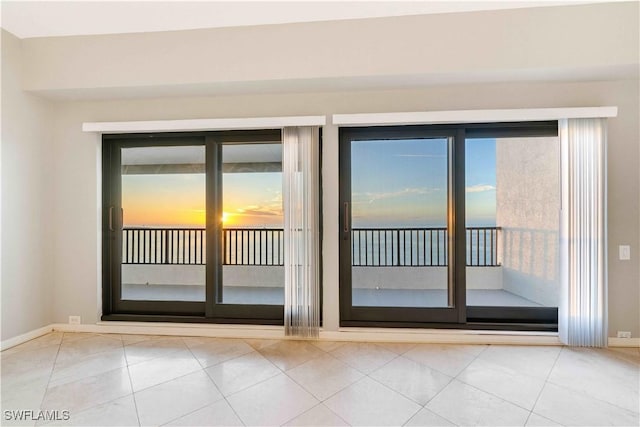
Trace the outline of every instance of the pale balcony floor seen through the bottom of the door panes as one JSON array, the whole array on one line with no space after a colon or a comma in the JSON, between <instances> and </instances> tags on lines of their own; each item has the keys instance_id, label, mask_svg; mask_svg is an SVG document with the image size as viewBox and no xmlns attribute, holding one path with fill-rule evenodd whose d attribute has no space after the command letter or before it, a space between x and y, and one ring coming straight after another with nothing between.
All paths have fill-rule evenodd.
<instances>
[{"instance_id":1,"label":"pale balcony floor seen through the bottom of the door panes","mask_svg":"<svg viewBox=\"0 0 640 427\"><path fill-rule=\"evenodd\" d=\"M122 298L150 301L204 301L204 286L123 285ZM440 289L354 289L353 305L364 307L445 307L447 293ZM225 286L228 304L274 304L284 302L283 288ZM467 291L472 306L540 307L541 305L502 289Z\"/></svg>"}]
</instances>

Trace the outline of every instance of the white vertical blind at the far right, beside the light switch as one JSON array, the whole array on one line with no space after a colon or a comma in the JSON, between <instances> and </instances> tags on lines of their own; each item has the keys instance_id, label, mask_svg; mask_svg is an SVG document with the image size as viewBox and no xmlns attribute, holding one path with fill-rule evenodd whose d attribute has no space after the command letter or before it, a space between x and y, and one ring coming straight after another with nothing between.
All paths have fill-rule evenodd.
<instances>
[{"instance_id":1,"label":"white vertical blind at the far right, beside the light switch","mask_svg":"<svg viewBox=\"0 0 640 427\"><path fill-rule=\"evenodd\" d=\"M606 119L559 121L562 159L560 339L607 345Z\"/></svg>"}]
</instances>

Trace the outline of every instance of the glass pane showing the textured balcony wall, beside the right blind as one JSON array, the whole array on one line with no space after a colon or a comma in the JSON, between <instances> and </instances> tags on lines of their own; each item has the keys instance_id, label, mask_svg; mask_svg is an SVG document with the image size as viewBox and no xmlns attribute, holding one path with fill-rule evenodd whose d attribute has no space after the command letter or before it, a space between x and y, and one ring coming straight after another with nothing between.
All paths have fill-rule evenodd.
<instances>
[{"instance_id":1,"label":"glass pane showing the textured balcony wall, beside the right blind","mask_svg":"<svg viewBox=\"0 0 640 427\"><path fill-rule=\"evenodd\" d=\"M467 139L467 305L557 307L557 137Z\"/></svg>"}]
</instances>

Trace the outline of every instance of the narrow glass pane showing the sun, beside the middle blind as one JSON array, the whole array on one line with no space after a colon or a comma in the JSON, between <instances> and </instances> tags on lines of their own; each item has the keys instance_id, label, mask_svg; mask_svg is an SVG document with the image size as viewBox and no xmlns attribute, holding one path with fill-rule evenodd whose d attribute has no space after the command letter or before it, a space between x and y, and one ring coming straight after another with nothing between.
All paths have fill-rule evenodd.
<instances>
[{"instance_id":1,"label":"narrow glass pane showing the sun, beside the middle blind","mask_svg":"<svg viewBox=\"0 0 640 427\"><path fill-rule=\"evenodd\" d=\"M222 161L222 302L282 305L282 145L223 145Z\"/></svg>"}]
</instances>

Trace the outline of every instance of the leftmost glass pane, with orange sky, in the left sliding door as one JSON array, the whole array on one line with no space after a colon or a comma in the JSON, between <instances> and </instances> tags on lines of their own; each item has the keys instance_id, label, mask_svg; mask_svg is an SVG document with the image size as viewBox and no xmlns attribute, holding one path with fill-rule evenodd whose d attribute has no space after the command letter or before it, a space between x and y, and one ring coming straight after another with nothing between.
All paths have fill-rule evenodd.
<instances>
[{"instance_id":1,"label":"leftmost glass pane, with orange sky, in the left sliding door","mask_svg":"<svg viewBox=\"0 0 640 427\"><path fill-rule=\"evenodd\" d=\"M205 300L205 148L123 148L122 299Z\"/></svg>"}]
</instances>

